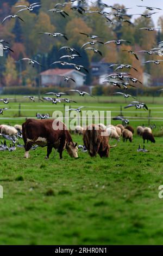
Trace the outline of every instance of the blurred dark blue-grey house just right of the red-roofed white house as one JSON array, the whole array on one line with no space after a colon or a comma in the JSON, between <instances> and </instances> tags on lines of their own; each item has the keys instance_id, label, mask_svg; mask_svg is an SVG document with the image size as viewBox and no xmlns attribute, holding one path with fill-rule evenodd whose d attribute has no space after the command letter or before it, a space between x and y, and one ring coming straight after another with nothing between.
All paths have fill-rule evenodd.
<instances>
[{"instance_id":1,"label":"blurred dark blue-grey house just right of the red-roofed white house","mask_svg":"<svg viewBox=\"0 0 163 256\"><path fill-rule=\"evenodd\" d=\"M106 63L103 61L91 63L91 76L93 85L102 85L104 77L113 72L113 68L110 68L112 63Z\"/></svg>"}]
</instances>

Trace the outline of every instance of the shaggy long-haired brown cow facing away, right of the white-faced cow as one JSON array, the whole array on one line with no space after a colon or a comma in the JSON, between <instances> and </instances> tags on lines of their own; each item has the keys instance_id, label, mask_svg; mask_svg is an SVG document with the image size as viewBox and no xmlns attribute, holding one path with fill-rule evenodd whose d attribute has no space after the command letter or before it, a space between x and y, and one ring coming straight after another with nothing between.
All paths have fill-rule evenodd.
<instances>
[{"instance_id":1,"label":"shaggy long-haired brown cow facing away, right of the white-faced cow","mask_svg":"<svg viewBox=\"0 0 163 256\"><path fill-rule=\"evenodd\" d=\"M110 148L116 146L109 145L109 137L104 132L97 124L91 124L84 130L83 142L91 157L97 153L100 157L108 157Z\"/></svg>"}]
</instances>

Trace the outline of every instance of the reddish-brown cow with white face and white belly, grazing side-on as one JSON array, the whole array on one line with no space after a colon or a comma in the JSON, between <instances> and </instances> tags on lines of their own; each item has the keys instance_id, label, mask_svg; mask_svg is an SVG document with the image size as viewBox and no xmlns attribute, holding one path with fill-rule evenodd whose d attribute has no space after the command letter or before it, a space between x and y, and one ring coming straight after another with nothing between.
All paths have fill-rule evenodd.
<instances>
[{"instance_id":1,"label":"reddish-brown cow with white face and white belly, grazing side-on","mask_svg":"<svg viewBox=\"0 0 163 256\"><path fill-rule=\"evenodd\" d=\"M24 157L29 157L29 150L33 144L41 147L47 146L47 156L52 152L52 148L57 148L60 159L62 159L62 152L66 148L71 157L78 157L77 143L73 143L70 133L68 132L64 123L57 121L55 125L58 129L53 129L55 120L35 120L28 119L22 124L22 134L26 153ZM62 127L62 128L59 128Z\"/></svg>"}]
</instances>

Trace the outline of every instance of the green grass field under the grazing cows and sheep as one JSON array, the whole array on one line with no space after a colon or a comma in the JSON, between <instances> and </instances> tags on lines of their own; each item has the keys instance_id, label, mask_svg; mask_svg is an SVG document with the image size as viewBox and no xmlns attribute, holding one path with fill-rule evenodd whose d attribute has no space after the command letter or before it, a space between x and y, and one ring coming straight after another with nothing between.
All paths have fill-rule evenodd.
<instances>
[{"instance_id":1,"label":"green grass field under the grazing cows and sheep","mask_svg":"<svg viewBox=\"0 0 163 256\"><path fill-rule=\"evenodd\" d=\"M162 98L139 100L151 109L151 123L157 126L154 133L158 132L163 125ZM21 118L18 102L9 103L1 124L21 124L26 117L35 117L36 112L52 115L55 109L63 110L63 104L18 101ZM116 116L120 105L126 103L121 97L85 97L79 104L71 104L81 105L89 110L111 110ZM131 126L148 124L148 111L122 111L131 117ZM83 144L82 136L72 137ZM91 158L80 150L78 159L70 158L65 151L64 160L54 151L46 160L46 148L31 151L29 159L23 158L23 148L0 152L0 184L4 189L4 198L0 199L0 244L162 244L163 199L158 197L158 187L163 184L163 138L146 144L148 153L138 153L139 144L142 146L143 140L136 134L132 143L121 140L111 148L107 159Z\"/></svg>"}]
</instances>

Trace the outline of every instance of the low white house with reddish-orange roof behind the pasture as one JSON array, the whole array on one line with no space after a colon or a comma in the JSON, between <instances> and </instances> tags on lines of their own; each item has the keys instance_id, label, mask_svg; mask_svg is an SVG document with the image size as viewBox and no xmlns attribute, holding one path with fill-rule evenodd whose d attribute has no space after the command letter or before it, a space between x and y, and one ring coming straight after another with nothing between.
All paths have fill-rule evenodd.
<instances>
[{"instance_id":1,"label":"low white house with reddish-orange roof behind the pasture","mask_svg":"<svg viewBox=\"0 0 163 256\"><path fill-rule=\"evenodd\" d=\"M65 75L70 76L72 79L76 81L69 80L65 82L65 79L62 76ZM41 76L41 86L42 87L50 87L50 86L67 86L67 87L80 87L84 85L86 74L79 72L75 69L48 69L44 72L40 73Z\"/></svg>"}]
</instances>

